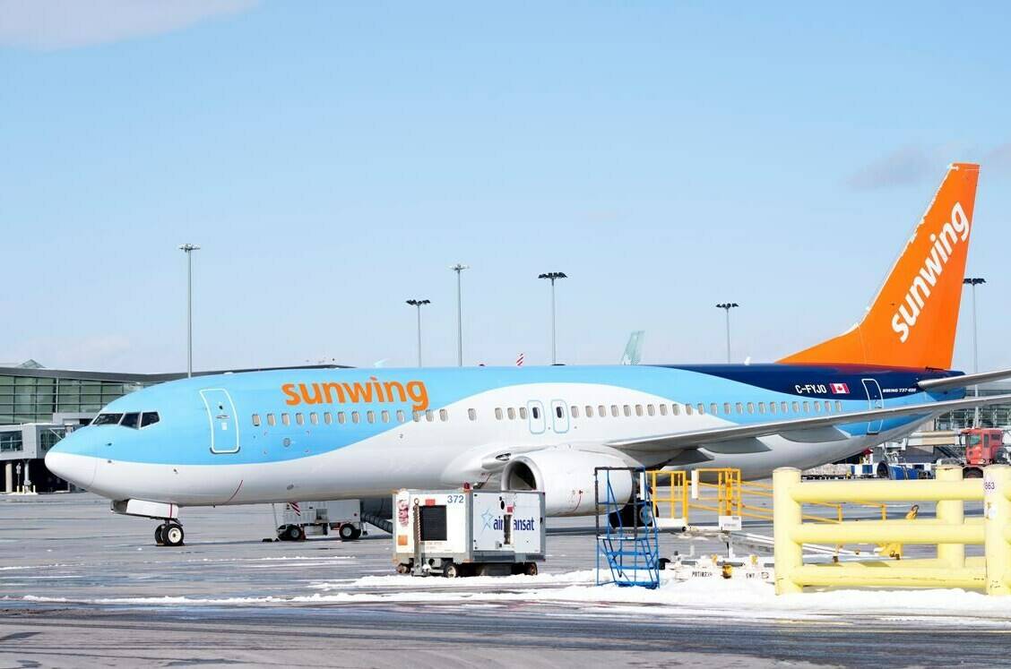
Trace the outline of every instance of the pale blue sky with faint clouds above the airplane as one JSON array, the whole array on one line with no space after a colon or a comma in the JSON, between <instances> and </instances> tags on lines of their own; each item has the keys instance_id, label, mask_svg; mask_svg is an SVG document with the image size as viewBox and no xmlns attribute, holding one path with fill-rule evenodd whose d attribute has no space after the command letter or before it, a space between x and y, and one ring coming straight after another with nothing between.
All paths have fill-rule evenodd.
<instances>
[{"instance_id":1,"label":"pale blue sky with faint clouds above the airplane","mask_svg":"<svg viewBox=\"0 0 1011 669\"><path fill-rule=\"evenodd\" d=\"M852 324L983 164L980 366L1011 367L999 3L0 0L0 360L174 371L774 360ZM964 303L968 307L968 301ZM963 315L968 308L963 308ZM955 363L972 366L971 329Z\"/></svg>"}]
</instances>

